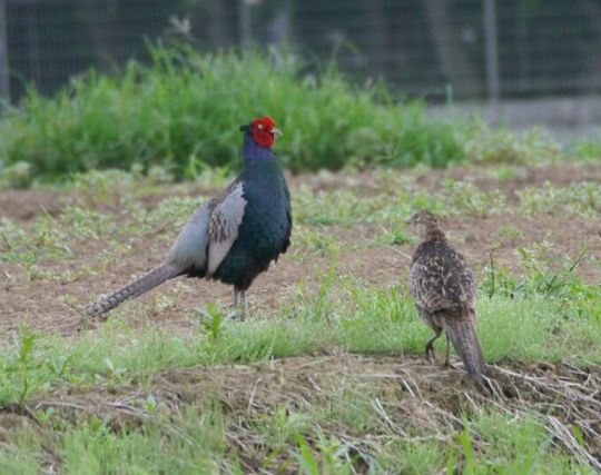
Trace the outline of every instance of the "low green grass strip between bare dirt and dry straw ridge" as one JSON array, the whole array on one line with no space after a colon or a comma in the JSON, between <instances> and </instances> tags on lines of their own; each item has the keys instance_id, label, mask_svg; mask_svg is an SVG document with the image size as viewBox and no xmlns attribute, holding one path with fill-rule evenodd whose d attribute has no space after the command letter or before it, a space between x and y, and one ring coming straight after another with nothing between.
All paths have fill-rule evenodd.
<instances>
[{"instance_id":1,"label":"low green grass strip between bare dirt and dry straw ridge","mask_svg":"<svg viewBox=\"0 0 601 475\"><path fill-rule=\"evenodd\" d=\"M581 305L599 307L601 300L597 296ZM553 363L570 358L600 364L599 320L588 315L574 317L574 308L568 311L563 307L562 300L545 296L481 299L479 330L486 359ZM127 313L127 306L116 310L100 334L75 342L22 328L0 352L0 404L21 403L66 383L118 386L147 380L171 367L249 363L324 354L332 348L421 354L431 335L406 290L382 290L353 281L335 294L322 281L313 297L299 293L276 318L264 316L238 324L216 309L191 314L197 329L185 334L174 335L151 324L134 329L125 319Z\"/></svg>"}]
</instances>

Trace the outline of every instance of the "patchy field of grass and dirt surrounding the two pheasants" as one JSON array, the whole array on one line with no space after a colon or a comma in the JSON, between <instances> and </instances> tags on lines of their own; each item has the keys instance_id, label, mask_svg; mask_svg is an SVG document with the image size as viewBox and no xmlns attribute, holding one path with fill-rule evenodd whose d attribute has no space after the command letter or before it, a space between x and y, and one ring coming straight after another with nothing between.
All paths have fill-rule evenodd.
<instances>
[{"instance_id":1,"label":"patchy field of grass and dirt surrounding the two pheasants","mask_svg":"<svg viewBox=\"0 0 601 475\"><path fill-rule=\"evenodd\" d=\"M579 274L599 265L594 243L570 241L565 251L562 239L531 228L540 212L549 222L591 226L599 186L529 182L514 194L472 180L480 170L436 189L420 185L427 171L418 170L295 179L294 245L282 265L302 271L277 306L259 306L244 323L217 304L195 308L198 296L187 298L186 286L204 287L181 280L124 304L98 328L59 333L97 280L127 279L119 273L135 271L127 261L138 254L160 256L189 212L227 181L227 168L205 169L194 184L174 184L157 167L76 175L62 186L61 212L3 219L6 286L52 288L51 299L40 298L58 328L38 327L46 315L32 315L0 345L0 472L593 473L585 425L563 416L570 404L581 410L588 403L544 386L585 383L539 368L601 364L601 293ZM431 330L415 313L401 256L415 244L404 218L424 206L467 250L474 229L506 218L477 238L481 254L494 250L493 260L474 265L479 335L489 363L539 382L496 375L520 397L472 404L479 396L461 372L424 363ZM511 265L502 259L508 248ZM403 270L382 284L368 260L384 251L383 267ZM370 264L370 273L361 269ZM443 338L436 350L444 352Z\"/></svg>"}]
</instances>

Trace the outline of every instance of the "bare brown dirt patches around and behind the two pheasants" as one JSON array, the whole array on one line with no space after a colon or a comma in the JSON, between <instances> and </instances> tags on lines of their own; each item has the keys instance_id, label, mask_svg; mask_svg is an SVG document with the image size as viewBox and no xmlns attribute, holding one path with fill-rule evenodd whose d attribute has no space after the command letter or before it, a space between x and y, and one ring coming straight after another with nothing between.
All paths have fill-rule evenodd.
<instances>
[{"instance_id":1,"label":"bare brown dirt patches around and behind the two pheasants","mask_svg":"<svg viewBox=\"0 0 601 475\"><path fill-rule=\"evenodd\" d=\"M393 171L391 171L393 172ZM405 172L408 171L394 171ZM549 181L566 185L573 181L601 181L601 164L562 165L551 168L524 169L520 177L497 184L490 174L477 167L459 167L447 171L433 170L420 172L417 184L425 189L435 190L447 177L469 179L484 189L501 188L508 196L515 190ZM376 184L370 172L351 178L325 174L321 177L300 176L292 179L292 188L300 184L314 190L352 188L365 195L374 192ZM178 191L179 192L179 191ZM190 191L191 192L191 191ZM197 192L197 190L196 190ZM166 191L166 195L168 190ZM9 190L0 191L0 219L8 217L27 226L42 212L60 214L61 207L72 197L61 196L55 190ZM156 202L156 197L148 206ZM519 230L519 236L503 236L499 229L511 225ZM443 219L450 239L466 255L476 269L490 261L494 249L496 266L506 266L520 271L516 248L532 243L548 240L555 256L575 259L587 244L588 253L580 263L577 273L588 284L601 283L601 220L582 219L562 215L536 216L490 216L451 217ZM351 228L329 226L324 232L335 236L341 243L365 244L377 229L374 226L357 225ZM176 230L171 230L174 234ZM40 278L28 280L21 264L1 263L0 271L0 329L16 329L21 324L45 330L68 334L79 328L81 310L99 294L109 293L125 285L132 276L139 275L160 261L168 249L165 239L150 232L140 239L125 243L131 246L120 256L106 256L102 243L90 240L71 249L79 258L43 263L43 268L66 276L59 281ZM250 306L255 311L276 311L287 301L297 288L299 279L309 284L326 268L326 257L295 258L294 235L292 253L282 256L279 263L257 278L249 291ZM378 286L397 285L405 281L412 246L359 246L355 250L344 250L338 256L339 271L361 277ZM82 268L101 267L102 271L82 273ZM69 275L73 277L70 278ZM168 308L150 309L150 318L157 324L178 327L189 326L190 311L210 301L228 305L231 289L224 285L197 279L180 278L169 281L161 291L174 297L175 304ZM142 303L152 301L150 296L140 298ZM140 305L138 303L127 305Z\"/></svg>"}]
</instances>

